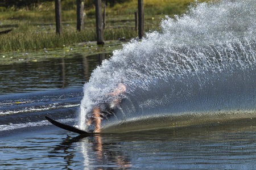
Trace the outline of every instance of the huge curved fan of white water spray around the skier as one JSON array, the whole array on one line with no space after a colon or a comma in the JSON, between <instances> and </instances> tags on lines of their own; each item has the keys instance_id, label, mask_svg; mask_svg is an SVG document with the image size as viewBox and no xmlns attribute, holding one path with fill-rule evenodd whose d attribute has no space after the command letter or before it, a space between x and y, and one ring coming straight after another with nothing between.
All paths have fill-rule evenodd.
<instances>
[{"instance_id":1,"label":"huge curved fan of white water spray around the skier","mask_svg":"<svg viewBox=\"0 0 256 170\"><path fill-rule=\"evenodd\" d=\"M125 101L102 131L121 132L255 118L256 1L221 1L166 17L160 32L131 40L84 86L79 128L117 82Z\"/></svg>"}]
</instances>

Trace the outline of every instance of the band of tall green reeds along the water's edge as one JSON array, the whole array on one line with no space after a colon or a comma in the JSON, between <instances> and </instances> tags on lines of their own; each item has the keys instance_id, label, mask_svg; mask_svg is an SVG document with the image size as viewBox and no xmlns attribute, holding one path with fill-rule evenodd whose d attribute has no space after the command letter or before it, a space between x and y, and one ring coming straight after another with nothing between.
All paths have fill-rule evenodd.
<instances>
[{"instance_id":1,"label":"band of tall green reeds along the water's edge","mask_svg":"<svg viewBox=\"0 0 256 170\"><path fill-rule=\"evenodd\" d=\"M131 28L111 28L104 31L105 40L130 39L135 36L135 30ZM85 41L96 41L95 29L86 28L81 32L65 30L60 36L55 32L10 32L0 36L0 52L58 48Z\"/></svg>"}]
</instances>

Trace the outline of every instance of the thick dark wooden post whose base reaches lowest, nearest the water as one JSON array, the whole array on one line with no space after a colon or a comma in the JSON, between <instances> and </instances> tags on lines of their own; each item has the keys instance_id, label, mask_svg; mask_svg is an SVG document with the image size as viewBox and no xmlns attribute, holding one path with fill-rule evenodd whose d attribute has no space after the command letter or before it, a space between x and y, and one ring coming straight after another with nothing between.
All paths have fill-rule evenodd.
<instances>
[{"instance_id":1,"label":"thick dark wooden post whose base reaches lowest, nearest the water","mask_svg":"<svg viewBox=\"0 0 256 170\"><path fill-rule=\"evenodd\" d=\"M96 6L96 33L97 33L97 44L104 44L103 36L103 24L102 24L102 12L101 12L101 0L95 0Z\"/></svg>"}]
</instances>

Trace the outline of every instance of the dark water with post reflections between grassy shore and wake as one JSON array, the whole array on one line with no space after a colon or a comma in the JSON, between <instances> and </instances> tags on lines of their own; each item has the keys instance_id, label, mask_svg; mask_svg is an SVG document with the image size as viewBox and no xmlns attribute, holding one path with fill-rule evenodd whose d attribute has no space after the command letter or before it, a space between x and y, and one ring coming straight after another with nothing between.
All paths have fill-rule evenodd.
<instances>
[{"instance_id":1,"label":"dark water with post reflections between grassy shore and wake","mask_svg":"<svg viewBox=\"0 0 256 170\"><path fill-rule=\"evenodd\" d=\"M109 54L72 58L52 58L42 62L0 65L0 95L49 90L67 87L82 87L90 73Z\"/></svg>"}]
</instances>

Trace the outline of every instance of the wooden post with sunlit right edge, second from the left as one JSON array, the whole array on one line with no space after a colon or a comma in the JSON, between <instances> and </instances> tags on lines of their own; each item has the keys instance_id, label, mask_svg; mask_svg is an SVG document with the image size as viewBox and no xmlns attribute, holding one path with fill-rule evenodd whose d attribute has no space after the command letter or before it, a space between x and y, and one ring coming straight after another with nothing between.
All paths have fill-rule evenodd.
<instances>
[{"instance_id":1,"label":"wooden post with sunlit right edge, second from the left","mask_svg":"<svg viewBox=\"0 0 256 170\"><path fill-rule=\"evenodd\" d=\"M84 0L76 0L77 31L84 29Z\"/></svg>"}]
</instances>

